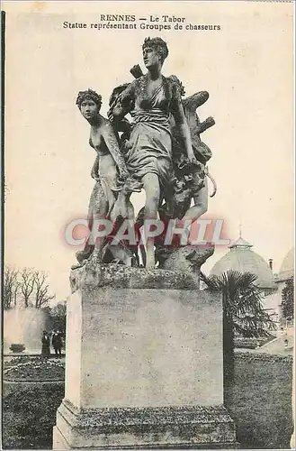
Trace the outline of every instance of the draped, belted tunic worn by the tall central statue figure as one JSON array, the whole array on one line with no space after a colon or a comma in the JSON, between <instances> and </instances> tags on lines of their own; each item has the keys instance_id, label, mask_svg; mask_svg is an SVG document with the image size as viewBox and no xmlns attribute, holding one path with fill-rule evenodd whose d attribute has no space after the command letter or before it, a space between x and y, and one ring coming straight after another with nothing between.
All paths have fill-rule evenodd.
<instances>
[{"instance_id":1,"label":"draped, belted tunic worn by the tall central statue figure","mask_svg":"<svg viewBox=\"0 0 296 451\"><path fill-rule=\"evenodd\" d=\"M131 148L126 153L128 170L137 179L148 173L157 174L161 187L172 176L172 139L163 82L148 99L136 99L130 133ZM137 101L138 100L138 101ZM148 108L144 108L148 106Z\"/></svg>"}]
</instances>

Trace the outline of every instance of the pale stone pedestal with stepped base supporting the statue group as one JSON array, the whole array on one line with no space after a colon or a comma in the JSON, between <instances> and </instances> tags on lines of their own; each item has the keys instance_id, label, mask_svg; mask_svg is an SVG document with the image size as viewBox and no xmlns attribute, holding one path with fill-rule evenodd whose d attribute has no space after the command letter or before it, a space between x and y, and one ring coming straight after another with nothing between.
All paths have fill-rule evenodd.
<instances>
[{"instance_id":1,"label":"pale stone pedestal with stepped base supporting the statue group","mask_svg":"<svg viewBox=\"0 0 296 451\"><path fill-rule=\"evenodd\" d=\"M54 449L235 447L223 407L221 299L193 274L71 273Z\"/></svg>"}]
</instances>

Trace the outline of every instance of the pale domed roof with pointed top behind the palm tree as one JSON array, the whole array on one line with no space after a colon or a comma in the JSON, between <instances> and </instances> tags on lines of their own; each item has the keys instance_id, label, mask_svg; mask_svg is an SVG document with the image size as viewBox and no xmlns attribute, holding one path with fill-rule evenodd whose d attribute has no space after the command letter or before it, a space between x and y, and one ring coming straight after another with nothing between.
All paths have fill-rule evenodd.
<instances>
[{"instance_id":1,"label":"pale domed roof with pointed top behind the palm tree","mask_svg":"<svg viewBox=\"0 0 296 451\"><path fill-rule=\"evenodd\" d=\"M256 285L260 288L275 289L274 275L265 259L251 250L253 244L243 238L229 246L230 251L224 255L211 269L211 275L220 275L230 270L251 272L256 274Z\"/></svg>"}]
</instances>

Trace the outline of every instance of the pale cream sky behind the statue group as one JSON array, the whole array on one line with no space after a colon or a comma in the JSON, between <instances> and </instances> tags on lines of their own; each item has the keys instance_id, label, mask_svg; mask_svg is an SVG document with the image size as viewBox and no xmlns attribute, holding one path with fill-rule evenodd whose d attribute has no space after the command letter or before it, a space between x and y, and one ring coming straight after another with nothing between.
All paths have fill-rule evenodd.
<instances>
[{"instance_id":1,"label":"pale cream sky behind the statue group","mask_svg":"<svg viewBox=\"0 0 296 451\"><path fill-rule=\"evenodd\" d=\"M141 44L168 45L165 76L183 81L186 95L210 93L199 108L216 124L202 134L212 150L209 169L218 192L207 217L223 218L230 239L242 236L278 272L293 245L292 4L253 2L4 2L5 263L49 274L57 300L69 294L76 248L67 223L85 217L93 188L89 124L75 102L79 90L103 97L144 69ZM220 31L91 29L100 14L184 17L220 24ZM65 29L64 21L86 23ZM149 23L147 21L147 23ZM136 209L144 195L134 197ZM228 252L217 248L203 271Z\"/></svg>"}]
</instances>

